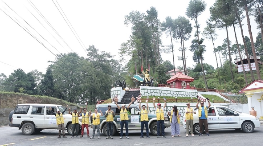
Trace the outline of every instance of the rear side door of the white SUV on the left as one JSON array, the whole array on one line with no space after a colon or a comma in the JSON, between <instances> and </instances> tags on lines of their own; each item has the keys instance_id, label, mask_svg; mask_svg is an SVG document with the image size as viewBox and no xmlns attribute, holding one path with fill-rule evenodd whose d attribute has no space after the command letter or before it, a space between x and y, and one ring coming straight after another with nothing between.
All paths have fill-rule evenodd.
<instances>
[{"instance_id":1,"label":"rear side door of the white SUV on the left","mask_svg":"<svg viewBox=\"0 0 263 146\"><path fill-rule=\"evenodd\" d=\"M44 127L44 108L45 106L33 106L29 115L29 120L34 121L36 128Z\"/></svg>"}]
</instances>

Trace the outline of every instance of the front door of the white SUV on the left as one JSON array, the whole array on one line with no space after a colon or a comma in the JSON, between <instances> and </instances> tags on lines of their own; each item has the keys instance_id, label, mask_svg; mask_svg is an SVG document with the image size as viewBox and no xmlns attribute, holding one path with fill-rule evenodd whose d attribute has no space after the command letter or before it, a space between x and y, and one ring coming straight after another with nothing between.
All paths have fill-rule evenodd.
<instances>
[{"instance_id":1,"label":"front door of the white SUV on the left","mask_svg":"<svg viewBox=\"0 0 263 146\"><path fill-rule=\"evenodd\" d=\"M57 107L52 106L52 111L56 113L57 111ZM49 107L45 107L45 113L44 113L44 126L45 128L57 128L57 120L56 120L56 116L53 115L52 113L48 112L49 111Z\"/></svg>"}]
</instances>

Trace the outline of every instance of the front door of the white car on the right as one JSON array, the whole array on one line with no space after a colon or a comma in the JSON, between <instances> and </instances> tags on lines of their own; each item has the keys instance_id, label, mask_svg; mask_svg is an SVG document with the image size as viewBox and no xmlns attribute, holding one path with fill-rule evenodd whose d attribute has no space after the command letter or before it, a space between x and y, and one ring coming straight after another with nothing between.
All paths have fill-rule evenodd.
<instances>
[{"instance_id":1,"label":"front door of the white car on the right","mask_svg":"<svg viewBox=\"0 0 263 146\"><path fill-rule=\"evenodd\" d=\"M227 107L216 108L219 115L220 129L238 128L240 125L239 114ZM239 127L240 128L240 127Z\"/></svg>"}]
</instances>

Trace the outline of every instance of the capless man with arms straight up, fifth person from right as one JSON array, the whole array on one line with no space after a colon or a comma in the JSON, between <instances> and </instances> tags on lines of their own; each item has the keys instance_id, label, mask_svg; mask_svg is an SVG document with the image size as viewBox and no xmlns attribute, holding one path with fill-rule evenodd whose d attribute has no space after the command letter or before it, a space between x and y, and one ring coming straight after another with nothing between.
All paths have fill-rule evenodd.
<instances>
[{"instance_id":1,"label":"capless man with arms straight up, fifth person from right","mask_svg":"<svg viewBox=\"0 0 263 146\"><path fill-rule=\"evenodd\" d=\"M139 109L141 111L141 113L140 113L141 114L141 137L140 138L143 138L144 125L145 125L145 129L146 129L146 137L150 138L149 128L148 128L148 122L149 122L149 119L148 119L148 109L149 109L148 100L146 100L147 109L145 109L145 105L143 105L142 109L141 109L141 102L142 102L142 100L140 100L140 104L139 104Z\"/></svg>"}]
</instances>

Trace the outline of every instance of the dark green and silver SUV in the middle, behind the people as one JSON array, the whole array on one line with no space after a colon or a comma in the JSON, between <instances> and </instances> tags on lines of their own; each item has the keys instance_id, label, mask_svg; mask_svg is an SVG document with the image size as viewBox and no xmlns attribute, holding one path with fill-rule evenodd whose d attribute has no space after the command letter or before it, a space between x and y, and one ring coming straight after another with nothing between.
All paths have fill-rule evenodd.
<instances>
[{"instance_id":1,"label":"dark green and silver SUV in the middle, behind the people","mask_svg":"<svg viewBox=\"0 0 263 146\"><path fill-rule=\"evenodd\" d=\"M98 111L101 110L103 115L105 114L105 111L108 110L107 104L100 104L97 105ZM111 105L111 110L114 111L115 117L114 117L114 125L113 125L113 135L118 133L120 131L120 111L118 107L115 104ZM140 110L137 105L130 105L129 112L131 113L128 115L129 119L129 130L141 130L140 125ZM156 114L148 114L149 119L149 130L151 131L152 135L157 135L157 119ZM92 121L91 121L92 123ZM165 128L171 126L170 118L168 115L165 115ZM106 117L102 116L100 117L100 130L103 132L105 136L107 136L107 125L106 125ZM124 127L125 129L125 127ZM145 129L145 128L144 128Z\"/></svg>"}]
</instances>

